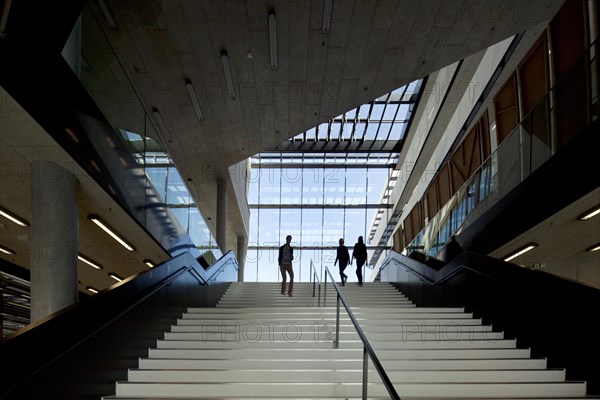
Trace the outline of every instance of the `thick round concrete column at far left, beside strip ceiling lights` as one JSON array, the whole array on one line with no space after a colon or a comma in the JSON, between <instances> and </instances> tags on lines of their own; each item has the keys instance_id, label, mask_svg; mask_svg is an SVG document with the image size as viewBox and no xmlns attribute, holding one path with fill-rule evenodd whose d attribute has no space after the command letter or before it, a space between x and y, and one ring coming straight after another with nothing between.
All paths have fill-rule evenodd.
<instances>
[{"instance_id":1,"label":"thick round concrete column at far left, beside strip ceiling lights","mask_svg":"<svg viewBox=\"0 0 600 400\"><path fill-rule=\"evenodd\" d=\"M48 161L31 164L31 322L77 301L77 179Z\"/></svg>"}]
</instances>

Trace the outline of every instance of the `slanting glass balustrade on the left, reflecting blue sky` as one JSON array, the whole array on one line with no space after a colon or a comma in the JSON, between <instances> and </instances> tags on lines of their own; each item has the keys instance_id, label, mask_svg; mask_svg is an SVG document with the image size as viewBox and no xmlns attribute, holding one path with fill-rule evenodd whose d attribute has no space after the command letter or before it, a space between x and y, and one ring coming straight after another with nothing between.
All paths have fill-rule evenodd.
<instances>
[{"instance_id":1,"label":"slanting glass balustrade on the left, reflecting blue sky","mask_svg":"<svg viewBox=\"0 0 600 400\"><path fill-rule=\"evenodd\" d=\"M86 133L114 182L112 194L172 255L222 253L163 146L93 6L82 10L80 81L101 110L85 115ZM101 17L101 16L100 16ZM121 195L125 194L125 195Z\"/></svg>"}]
</instances>

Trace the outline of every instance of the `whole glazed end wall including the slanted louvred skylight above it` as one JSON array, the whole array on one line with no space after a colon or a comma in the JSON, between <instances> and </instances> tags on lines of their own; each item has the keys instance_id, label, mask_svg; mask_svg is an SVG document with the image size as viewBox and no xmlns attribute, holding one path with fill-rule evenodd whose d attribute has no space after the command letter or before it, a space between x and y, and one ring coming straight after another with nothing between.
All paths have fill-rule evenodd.
<instances>
[{"instance_id":1,"label":"whole glazed end wall including the slanted louvred skylight above it","mask_svg":"<svg viewBox=\"0 0 600 400\"><path fill-rule=\"evenodd\" d=\"M322 279L340 238L350 251L359 236L370 250L387 250L370 241L388 222L394 168L422 86L412 82L251 159L245 281L281 279L278 248L287 235L297 281L309 280L311 261Z\"/></svg>"}]
</instances>

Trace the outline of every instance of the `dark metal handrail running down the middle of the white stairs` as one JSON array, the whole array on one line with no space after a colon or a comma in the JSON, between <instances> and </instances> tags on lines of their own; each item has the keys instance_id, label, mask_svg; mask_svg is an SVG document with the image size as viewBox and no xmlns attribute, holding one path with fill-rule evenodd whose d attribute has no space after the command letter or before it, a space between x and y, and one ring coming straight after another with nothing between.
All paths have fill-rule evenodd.
<instances>
[{"instance_id":1,"label":"dark metal handrail running down the middle of the white stairs","mask_svg":"<svg viewBox=\"0 0 600 400\"><path fill-rule=\"evenodd\" d=\"M367 384L368 384L367 372L369 370L369 357L371 357L371 362L373 362L373 365L375 366L375 369L377 370L377 373L379 374L381 381L383 382L386 390L388 391L390 398L394 399L394 400L400 400L400 396L396 392L396 389L394 389L394 385L392 385L390 378L387 376L387 373L385 372L385 370L383 369L383 366L379 362L379 358L377 358L377 355L375 354L375 350L373 350L373 347L371 347L371 344L369 343L367 336L365 335L362 328L358 324L358 321L356 320L354 313L352 312L352 310L350 310L350 306L346 302L346 299L344 299L344 296L342 295L342 292L340 291L340 288L339 288L337 282L335 281L335 279L333 278L333 275L331 274L331 271L329 271L329 268L327 268L327 267L325 267L325 279L324 279L325 290L324 290L323 305L325 305L326 301L327 301L327 275L329 275L331 277L331 283L333 284L333 288L337 292L337 306L336 306L336 316L335 316L335 320L336 320L336 322L335 322L335 348L337 349L340 347L340 302L344 305L344 308L346 309L346 312L348 313L348 317L350 317L350 321L352 321L352 324L354 325L354 329L356 329L356 333L358 333L360 340L363 342L362 398L364 400L367 399ZM320 303L320 301L319 301L319 303Z\"/></svg>"}]
</instances>

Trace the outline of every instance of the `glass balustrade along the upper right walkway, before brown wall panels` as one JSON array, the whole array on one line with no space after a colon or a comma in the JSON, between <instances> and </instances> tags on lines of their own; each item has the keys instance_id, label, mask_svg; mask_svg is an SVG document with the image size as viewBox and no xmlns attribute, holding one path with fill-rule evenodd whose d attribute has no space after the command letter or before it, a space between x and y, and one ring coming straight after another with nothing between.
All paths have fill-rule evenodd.
<instances>
[{"instance_id":1,"label":"glass balustrade along the upper right walkway, before brown wall panels","mask_svg":"<svg viewBox=\"0 0 600 400\"><path fill-rule=\"evenodd\" d=\"M479 218L598 118L597 46L594 43L560 78L403 254L419 250L436 257L452 235Z\"/></svg>"}]
</instances>

